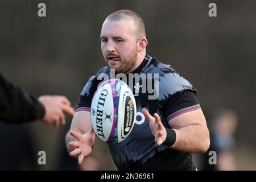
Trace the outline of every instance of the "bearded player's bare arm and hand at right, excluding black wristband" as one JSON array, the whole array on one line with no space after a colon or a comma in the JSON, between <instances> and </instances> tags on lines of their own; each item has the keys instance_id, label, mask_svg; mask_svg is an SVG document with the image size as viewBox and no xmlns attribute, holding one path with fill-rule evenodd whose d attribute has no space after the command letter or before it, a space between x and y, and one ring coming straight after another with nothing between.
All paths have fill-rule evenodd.
<instances>
[{"instance_id":1,"label":"bearded player's bare arm and hand at right, excluding black wristband","mask_svg":"<svg viewBox=\"0 0 256 182\"><path fill-rule=\"evenodd\" d=\"M166 129L158 114L154 117L143 109L143 114L150 124L155 142L160 145L166 140ZM210 145L207 123L201 109L189 111L170 119L168 122L176 133L176 141L171 148L183 152L206 152Z\"/></svg>"}]
</instances>

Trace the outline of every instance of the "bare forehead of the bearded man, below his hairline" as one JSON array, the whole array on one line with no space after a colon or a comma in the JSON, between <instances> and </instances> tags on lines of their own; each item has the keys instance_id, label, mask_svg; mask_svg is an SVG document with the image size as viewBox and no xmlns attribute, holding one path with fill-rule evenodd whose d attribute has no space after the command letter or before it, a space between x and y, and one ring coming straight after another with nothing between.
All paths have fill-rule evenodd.
<instances>
[{"instance_id":1,"label":"bare forehead of the bearded man, below his hairline","mask_svg":"<svg viewBox=\"0 0 256 182\"><path fill-rule=\"evenodd\" d=\"M134 34L134 32L135 25L133 19L120 19L115 21L106 19L101 28L101 36L105 34Z\"/></svg>"}]
</instances>

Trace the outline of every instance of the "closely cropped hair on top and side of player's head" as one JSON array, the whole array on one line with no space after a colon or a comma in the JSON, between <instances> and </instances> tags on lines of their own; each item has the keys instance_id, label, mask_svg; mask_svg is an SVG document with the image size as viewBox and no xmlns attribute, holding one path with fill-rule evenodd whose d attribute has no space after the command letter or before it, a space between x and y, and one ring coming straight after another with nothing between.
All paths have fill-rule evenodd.
<instances>
[{"instance_id":1,"label":"closely cropped hair on top and side of player's head","mask_svg":"<svg viewBox=\"0 0 256 182\"><path fill-rule=\"evenodd\" d=\"M135 27L137 27L138 39L146 38L146 30L143 19L140 15L131 10L118 10L108 15L105 20L117 21L121 19L129 18L134 21Z\"/></svg>"}]
</instances>

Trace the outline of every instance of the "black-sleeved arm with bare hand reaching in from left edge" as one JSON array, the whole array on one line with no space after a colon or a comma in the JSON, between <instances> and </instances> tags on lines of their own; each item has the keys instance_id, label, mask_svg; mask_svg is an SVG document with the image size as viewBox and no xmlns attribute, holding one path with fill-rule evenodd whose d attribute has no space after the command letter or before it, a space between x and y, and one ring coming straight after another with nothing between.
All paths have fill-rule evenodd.
<instances>
[{"instance_id":1,"label":"black-sleeved arm with bare hand reaching in from left edge","mask_svg":"<svg viewBox=\"0 0 256 182\"><path fill-rule=\"evenodd\" d=\"M0 120L6 123L23 123L42 119L57 129L65 123L65 115L75 114L64 96L40 96L38 99L15 87L0 75Z\"/></svg>"}]
</instances>

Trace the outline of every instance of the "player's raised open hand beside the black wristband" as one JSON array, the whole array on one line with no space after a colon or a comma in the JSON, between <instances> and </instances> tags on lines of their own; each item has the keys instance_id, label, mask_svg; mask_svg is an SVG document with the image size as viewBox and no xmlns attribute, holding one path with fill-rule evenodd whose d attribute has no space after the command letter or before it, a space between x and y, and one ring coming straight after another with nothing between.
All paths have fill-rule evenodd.
<instances>
[{"instance_id":1,"label":"player's raised open hand beside the black wristband","mask_svg":"<svg viewBox=\"0 0 256 182\"><path fill-rule=\"evenodd\" d=\"M155 113L154 117L152 117L145 108L142 109L142 113L150 124L151 132L155 137L155 143L160 146L160 144L166 140L166 129L164 128L159 115Z\"/></svg>"}]
</instances>

